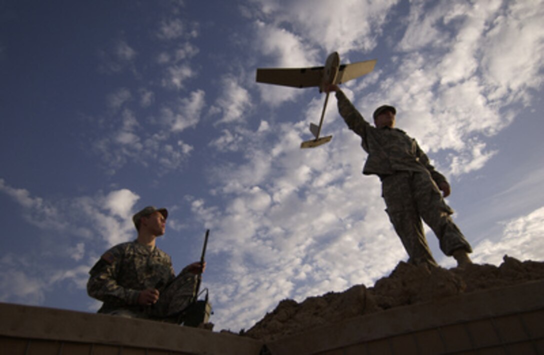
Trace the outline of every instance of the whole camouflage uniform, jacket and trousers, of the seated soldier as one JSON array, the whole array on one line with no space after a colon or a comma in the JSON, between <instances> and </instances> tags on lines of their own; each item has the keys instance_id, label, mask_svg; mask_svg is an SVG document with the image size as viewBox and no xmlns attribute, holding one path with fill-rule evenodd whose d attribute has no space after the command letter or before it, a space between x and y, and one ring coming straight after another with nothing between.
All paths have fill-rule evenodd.
<instances>
[{"instance_id":1,"label":"whole camouflage uniform, jacket and trousers, of the seated soldier","mask_svg":"<svg viewBox=\"0 0 544 355\"><path fill-rule=\"evenodd\" d=\"M103 302L98 313L160 318L180 312L193 297L196 275L186 271L175 277L170 256L158 247L137 241L110 248L89 271L89 296ZM140 291L157 289L159 300L140 306Z\"/></svg>"}]
</instances>

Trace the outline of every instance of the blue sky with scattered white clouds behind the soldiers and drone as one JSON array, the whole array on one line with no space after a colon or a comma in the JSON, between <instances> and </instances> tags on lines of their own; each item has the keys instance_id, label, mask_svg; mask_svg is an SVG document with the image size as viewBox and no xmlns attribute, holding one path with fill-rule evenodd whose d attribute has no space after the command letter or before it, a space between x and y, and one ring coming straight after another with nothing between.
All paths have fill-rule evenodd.
<instances>
[{"instance_id":1,"label":"blue sky with scattered white clouds behind the soldiers and drone","mask_svg":"<svg viewBox=\"0 0 544 355\"><path fill-rule=\"evenodd\" d=\"M389 275L407 255L336 98L331 142L301 150L325 95L255 81L334 51L377 60L341 88L364 117L397 108L473 261L542 261L543 17L542 0L0 0L0 302L96 312L88 271L146 205L170 212L176 272L211 230L217 331Z\"/></svg>"}]
</instances>

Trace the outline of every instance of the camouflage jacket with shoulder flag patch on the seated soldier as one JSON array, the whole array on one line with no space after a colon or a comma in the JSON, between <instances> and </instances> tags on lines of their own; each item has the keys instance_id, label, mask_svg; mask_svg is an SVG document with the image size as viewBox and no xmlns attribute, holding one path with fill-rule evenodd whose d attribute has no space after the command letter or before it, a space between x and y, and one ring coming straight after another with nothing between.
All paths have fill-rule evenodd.
<instances>
[{"instance_id":1,"label":"camouflage jacket with shoulder flag patch on the seated soldier","mask_svg":"<svg viewBox=\"0 0 544 355\"><path fill-rule=\"evenodd\" d=\"M87 292L104 302L104 312L137 306L141 290L154 288L161 292L175 278L168 254L158 247L151 250L137 241L110 248L89 274Z\"/></svg>"}]
</instances>

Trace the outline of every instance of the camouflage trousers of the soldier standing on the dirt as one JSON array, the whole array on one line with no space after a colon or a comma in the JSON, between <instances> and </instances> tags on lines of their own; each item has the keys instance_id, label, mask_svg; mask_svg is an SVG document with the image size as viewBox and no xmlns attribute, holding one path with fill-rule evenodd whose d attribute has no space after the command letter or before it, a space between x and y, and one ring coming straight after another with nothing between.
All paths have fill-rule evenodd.
<instances>
[{"instance_id":1,"label":"camouflage trousers of the soldier standing on the dirt","mask_svg":"<svg viewBox=\"0 0 544 355\"><path fill-rule=\"evenodd\" d=\"M422 219L435 233L440 249L447 256L458 249L472 252L450 217L453 210L428 172L401 171L381 180L387 215L410 257L409 263L436 265L425 239Z\"/></svg>"}]
</instances>

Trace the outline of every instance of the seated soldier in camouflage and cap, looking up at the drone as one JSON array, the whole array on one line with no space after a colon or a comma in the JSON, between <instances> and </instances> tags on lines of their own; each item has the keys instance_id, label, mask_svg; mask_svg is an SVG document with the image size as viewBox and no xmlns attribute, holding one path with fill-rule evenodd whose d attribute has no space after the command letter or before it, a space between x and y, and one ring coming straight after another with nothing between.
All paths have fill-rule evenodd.
<instances>
[{"instance_id":1,"label":"seated soldier in camouflage and cap, looking up at the drone","mask_svg":"<svg viewBox=\"0 0 544 355\"><path fill-rule=\"evenodd\" d=\"M163 319L189 306L206 264L189 264L175 276L170 256L155 246L167 217L165 208L139 211L132 217L138 238L110 248L89 271L87 292L103 302L98 313Z\"/></svg>"}]
</instances>

